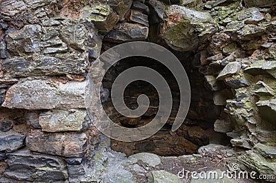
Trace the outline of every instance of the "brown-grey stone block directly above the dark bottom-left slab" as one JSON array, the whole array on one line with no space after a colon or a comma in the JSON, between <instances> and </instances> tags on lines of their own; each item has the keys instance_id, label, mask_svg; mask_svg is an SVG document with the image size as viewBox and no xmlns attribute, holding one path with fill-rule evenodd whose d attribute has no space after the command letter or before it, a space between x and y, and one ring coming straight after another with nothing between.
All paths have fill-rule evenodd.
<instances>
[{"instance_id":1,"label":"brown-grey stone block directly above the dark bottom-left slab","mask_svg":"<svg viewBox=\"0 0 276 183\"><path fill-rule=\"evenodd\" d=\"M65 157L81 157L86 153L86 133L44 133L32 130L26 138L31 151Z\"/></svg>"}]
</instances>

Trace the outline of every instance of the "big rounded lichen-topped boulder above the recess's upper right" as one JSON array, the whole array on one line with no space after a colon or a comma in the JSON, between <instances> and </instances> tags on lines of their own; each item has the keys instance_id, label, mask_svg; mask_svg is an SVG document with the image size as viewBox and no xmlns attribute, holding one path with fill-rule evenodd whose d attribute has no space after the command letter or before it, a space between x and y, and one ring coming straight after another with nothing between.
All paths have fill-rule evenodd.
<instances>
[{"instance_id":1,"label":"big rounded lichen-topped boulder above the recess's upper right","mask_svg":"<svg viewBox=\"0 0 276 183\"><path fill-rule=\"evenodd\" d=\"M161 37L172 49L179 52L197 50L200 38L211 36L213 19L208 12L199 12L172 5L166 9L161 26Z\"/></svg>"}]
</instances>

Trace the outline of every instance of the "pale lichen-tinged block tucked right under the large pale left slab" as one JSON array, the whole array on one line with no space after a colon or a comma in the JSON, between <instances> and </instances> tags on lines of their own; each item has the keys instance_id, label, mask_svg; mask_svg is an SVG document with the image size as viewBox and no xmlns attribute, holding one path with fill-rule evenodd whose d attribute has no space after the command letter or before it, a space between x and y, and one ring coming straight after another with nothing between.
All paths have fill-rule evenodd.
<instances>
[{"instance_id":1,"label":"pale lichen-tinged block tucked right under the large pale left slab","mask_svg":"<svg viewBox=\"0 0 276 183\"><path fill-rule=\"evenodd\" d=\"M86 119L86 110L52 110L39 114L42 131L81 131Z\"/></svg>"}]
</instances>

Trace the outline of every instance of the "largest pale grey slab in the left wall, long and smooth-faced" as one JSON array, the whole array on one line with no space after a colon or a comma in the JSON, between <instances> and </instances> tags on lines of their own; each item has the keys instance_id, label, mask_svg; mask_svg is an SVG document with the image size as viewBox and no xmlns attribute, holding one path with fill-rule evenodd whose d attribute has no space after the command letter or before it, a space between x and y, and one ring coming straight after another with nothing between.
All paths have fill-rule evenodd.
<instances>
[{"instance_id":1,"label":"largest pale grey slab in the left wall, long and smooth-faced","mask_svg":"<svg viewBox=\"0 0 276 183\"><path fill-rule=\"evenodd\" d=\"M26 80L12 85L3 107L19 109L85 109L86 82L58 84L50 80Z\"/></svg>"}]
</instances>

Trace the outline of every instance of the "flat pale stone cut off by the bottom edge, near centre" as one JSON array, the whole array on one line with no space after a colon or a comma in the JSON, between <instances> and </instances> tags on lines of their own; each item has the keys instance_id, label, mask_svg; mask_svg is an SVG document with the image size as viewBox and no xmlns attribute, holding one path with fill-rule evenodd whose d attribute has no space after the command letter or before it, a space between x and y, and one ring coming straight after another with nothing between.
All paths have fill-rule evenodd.
<instances>
[{"instance_id":1,"label":"flat pale stone cut off by the bottom edge, near centre","mask_svg":"<svg viewBox=\"0 0 276 183\"><path fill-rule=\"evenodd\" d=\"M149 183L180 183L179 177L177 175L173 175L168 171L151 171L148 173L148 182Z\"/></svg>"}]
</instances>

